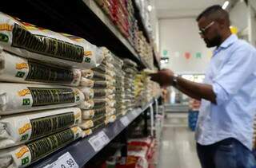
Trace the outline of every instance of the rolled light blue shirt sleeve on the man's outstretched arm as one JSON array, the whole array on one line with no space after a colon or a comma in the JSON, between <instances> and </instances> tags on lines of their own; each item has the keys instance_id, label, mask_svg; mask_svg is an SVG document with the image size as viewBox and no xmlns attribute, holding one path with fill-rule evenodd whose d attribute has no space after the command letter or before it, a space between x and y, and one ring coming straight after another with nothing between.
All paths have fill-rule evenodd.
<instances>
[{"instance_id":1,"label":"rolled light blue shirt sleeve on the man's outstretched arm","mask_svg":"<svg viewBox=\"0 0 256 168\"><path fill-rule=\"evenodd\" d=\"M242 88L256 66L256 53L250 45L239 46L227 57L230 59L213 79L213 90L218 105L230 100L230 97Z\"/></svg>"}]
</instances>

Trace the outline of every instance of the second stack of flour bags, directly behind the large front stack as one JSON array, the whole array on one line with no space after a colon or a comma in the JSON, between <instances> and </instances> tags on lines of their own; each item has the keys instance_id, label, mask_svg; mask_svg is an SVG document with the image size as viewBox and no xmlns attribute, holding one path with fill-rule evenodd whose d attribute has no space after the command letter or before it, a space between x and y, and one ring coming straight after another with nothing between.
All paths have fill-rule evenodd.
<instances>
[{"instance_id":1,"label":"second stack of flour bags, directly behind the large front stack","mask_svg":"<svg viewBox=\"0 0 256 168\"><path fill-rule=\"evenodd\" d=\"M86 135L116 119L114 66L109 63L110 51L106 48L102 48L102 51L102 64L97 68L82 69L79 88L85 95L85 102L80 127Z\"/></svg>"}]
</instances>

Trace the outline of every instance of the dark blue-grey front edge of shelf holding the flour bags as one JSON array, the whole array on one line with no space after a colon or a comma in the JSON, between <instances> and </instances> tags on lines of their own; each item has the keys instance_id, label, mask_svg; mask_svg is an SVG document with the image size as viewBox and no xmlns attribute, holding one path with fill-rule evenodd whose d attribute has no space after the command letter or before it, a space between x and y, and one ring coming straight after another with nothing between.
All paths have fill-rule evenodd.
<instances>
[{"instance_id":1,"label":"dark blue-grey front edge of shelf holding the flour bags","mask_svg":"<svg viewBox=\"0 0 256 168\"><path fill-rule=\"evenodd\" d=\"M84 166L86 162L93 158L95 154L97 154L100 150L102 150L103 147L107 145L105 144L100 148L100 150L95 151L94 148L90 145L89 139L93 138L94 136L98 135L99 132L103 131L111 141L118 134L120 134L130 123L132 123L134 119L138 117L138 115L142 114L143 111L150 107L151 104L154 104L154 100L151 100L148 104L146 104L145 107L134 109L134 111L130 111L127 115L122 116L122 118L126 118L125 123L122 121L122 118L117 119L114 123L110 123L106 127L98 131L95 131L93 135L90 135L85 139L78 139L74 143L71 143L69 146L56 151L54 154L50 154L46 158L43 158L42 160L35 162L29 167L51 167L50 165L52 163L58 161L58 159L61 158L62 155L66 154L67 152L69 152L72 155L72 157L74 158L75 162L77 162L79 167Z\"/></svg>"}]
</instances>

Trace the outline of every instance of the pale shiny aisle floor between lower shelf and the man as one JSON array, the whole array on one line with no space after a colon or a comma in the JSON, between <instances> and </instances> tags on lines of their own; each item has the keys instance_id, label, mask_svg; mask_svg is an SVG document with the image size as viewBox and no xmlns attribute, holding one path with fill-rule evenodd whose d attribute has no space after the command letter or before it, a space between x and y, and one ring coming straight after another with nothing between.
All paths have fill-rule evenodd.
<instances>
[{"instance_id":1,"label":"pale shiny aisle floor between lower shelf and the man","mask_svg":"<svg viewBox=\"0 0 256 168\"><path fill-rule=\"evenodd\" d=\"M200 168L194 132L186 120L186 114L168 115L165 119L158 168Z\"/></svg>"}]
</instances>

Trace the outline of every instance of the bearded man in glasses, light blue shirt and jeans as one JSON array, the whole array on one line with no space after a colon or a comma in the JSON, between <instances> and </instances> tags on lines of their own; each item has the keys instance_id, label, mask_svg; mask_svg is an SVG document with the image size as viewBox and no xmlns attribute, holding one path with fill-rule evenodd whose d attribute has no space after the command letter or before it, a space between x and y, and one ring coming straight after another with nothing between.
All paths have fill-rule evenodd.
<instances>
[{"instance_id":1,"label":"bearded man in glasses, light blue shirt and jeans","mask_svg":"<svg viewBox=\"0 0 256 168\"><path fill-rule=\"evenodd\" d=\"M256 111L256 51L230 33L230 18L221 6L210 6L197 18L206 46L216 47L204 84L174 75L152 74L163 87L173 85L202 100L196 130L203 168L255 167L251 153Z\"/></svg>"}]
</instances>

